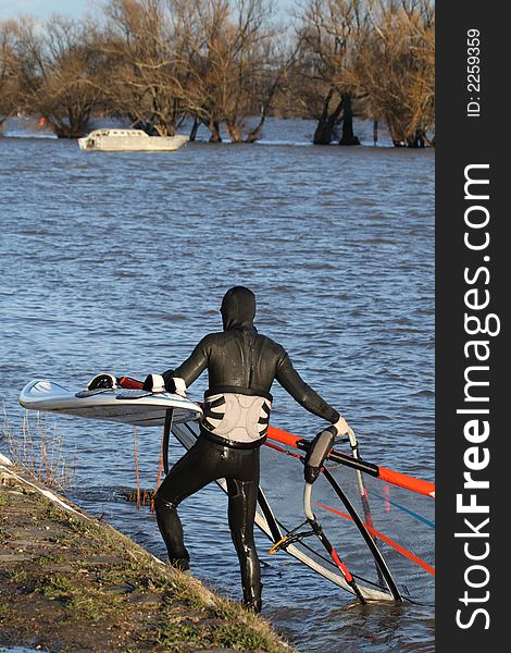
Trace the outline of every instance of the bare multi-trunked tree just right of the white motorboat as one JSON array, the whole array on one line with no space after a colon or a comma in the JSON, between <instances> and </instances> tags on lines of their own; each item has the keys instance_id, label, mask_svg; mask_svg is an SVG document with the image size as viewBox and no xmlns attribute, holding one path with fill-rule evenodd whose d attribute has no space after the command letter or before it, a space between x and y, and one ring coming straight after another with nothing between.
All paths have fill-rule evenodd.
<instances>
[{"instance_id":1,"label":"bare multi-trunked tree just right of the white motorboat","mask_svg":"<svg viewBox=\"0 0 511 653\"><path fill-rule=\"evenodd\" d=\"M174 0L188 47L186 103L211 140L225 124L234 143L260 134L282 76L266 0ZM246 130L248 116L260 122ZM194 134L192 134L194 135Z\"/></svg>"}]
</instances>

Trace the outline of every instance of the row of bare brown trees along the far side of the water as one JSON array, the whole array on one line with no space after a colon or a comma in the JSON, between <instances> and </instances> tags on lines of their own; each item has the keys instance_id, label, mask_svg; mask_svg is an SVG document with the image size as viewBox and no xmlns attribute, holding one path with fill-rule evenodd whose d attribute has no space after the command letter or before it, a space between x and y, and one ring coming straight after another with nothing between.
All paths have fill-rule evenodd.
<instances>
[{"instance_id":1,"label":"row of bare brown trees along the far side of the water","mask_svg":"<svg viewBox=\"0 0 511 653\"><path fill-rule=\"evenodd\" d=\"M288 19L271 2L108 0L96 17L2 21L0 123L21 111L76 138L97 116L162 136L186 120L191 139L223 125L238 143L276 115L357 145L356 116L396 146L434 145L434 0L301 0Z\"/></svg>"}]
</instances>

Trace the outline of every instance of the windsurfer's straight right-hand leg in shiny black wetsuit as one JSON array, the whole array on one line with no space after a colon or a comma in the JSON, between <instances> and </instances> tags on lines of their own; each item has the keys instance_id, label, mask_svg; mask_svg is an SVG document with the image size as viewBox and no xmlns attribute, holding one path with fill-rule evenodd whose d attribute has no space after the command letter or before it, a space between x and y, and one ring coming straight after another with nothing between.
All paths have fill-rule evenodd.
<instances>
[{"instance_id":1,"label":"windsurfer's straight right-hand leg in shiny black wetsuit","mask_svg":"<svg viewBox=\"0 0 511 653\"><path fill-rule=\"evenodd\" d=\"M258 480L227 479L228 520L241 570L244 603L254 612L262 607L261 566L253 539L258 488Z\"/></svg>"}]
</instances>

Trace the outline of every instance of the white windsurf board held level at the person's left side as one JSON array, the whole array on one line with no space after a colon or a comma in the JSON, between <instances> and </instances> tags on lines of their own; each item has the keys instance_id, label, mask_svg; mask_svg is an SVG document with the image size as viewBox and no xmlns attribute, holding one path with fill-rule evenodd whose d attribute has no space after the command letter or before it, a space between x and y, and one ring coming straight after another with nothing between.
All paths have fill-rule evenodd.
<instances>
[{"instance_id":1,"label":"white windsurf board held level at the person's left side","mask_svg":"<svg viewBox=\"0 0 511 653\"><path fill-rule=\"evenodd\" d=\"M20 404L30 410L62 412L137 427L163 426L170 408L173 409L173 423L195 420L202 415L198 404L169 392L150 393L122 387L73 392L46 379L27 383L20 394Z\"/></svg>"}]
</instances>

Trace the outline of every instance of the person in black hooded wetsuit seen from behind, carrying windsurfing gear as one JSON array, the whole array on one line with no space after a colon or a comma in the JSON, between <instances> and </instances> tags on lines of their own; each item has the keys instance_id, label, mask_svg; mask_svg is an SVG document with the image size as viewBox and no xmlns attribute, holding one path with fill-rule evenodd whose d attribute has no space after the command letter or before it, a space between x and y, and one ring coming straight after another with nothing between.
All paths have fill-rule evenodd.
<instances>
[{"instance_id":1,"label":"person in black hooded wetsuit seen from behind, carrying windsurfing gear","mask_svg":"<svg viewBox=\"0 0 511 653\"><path fill-rule=\"evenodd\" d=\"M228 522L241 569L245 605L261 611L261 572L253 539L259 489L259 449L278 383L310 412L331 422L334 434L348 431L345 419L302 381L284 347L253 325L256 296L242 286L222 300L223 332L203 337L183 365L163 373L170 392L184 394L208 369L203 418L197 443L170 470L154 497L158 526L171 564L187 570L177 506L208 483L225 478Z\"/></svg>"}]
</instances>

